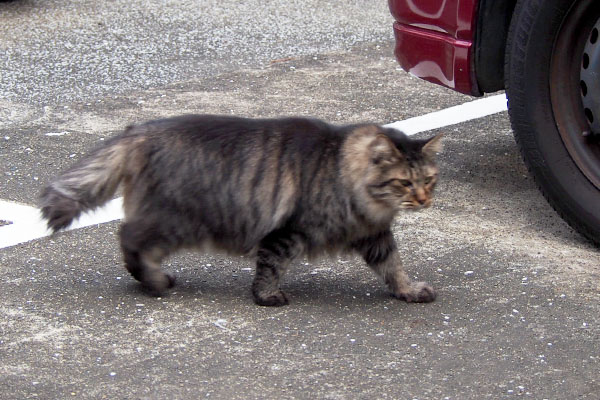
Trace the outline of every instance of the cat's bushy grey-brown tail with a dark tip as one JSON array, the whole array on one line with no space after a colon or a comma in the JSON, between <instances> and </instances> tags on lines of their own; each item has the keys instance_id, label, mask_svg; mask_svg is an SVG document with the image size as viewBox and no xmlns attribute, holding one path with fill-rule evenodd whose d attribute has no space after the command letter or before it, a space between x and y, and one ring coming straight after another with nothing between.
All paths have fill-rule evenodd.
<instances>
[{"instance_id":1,"label":"cat's bushy grey-brown tail with a dark tip","mask_svg":"<svg viewBox=\"0 0 600 400\"><path fill-rule=\"evenodd\" d=\"M131 141L115 137L48 184L41 194L42 216L54 232L82 212L106 203L116 192L131 156Z\"/></svg>"}]
</instances>

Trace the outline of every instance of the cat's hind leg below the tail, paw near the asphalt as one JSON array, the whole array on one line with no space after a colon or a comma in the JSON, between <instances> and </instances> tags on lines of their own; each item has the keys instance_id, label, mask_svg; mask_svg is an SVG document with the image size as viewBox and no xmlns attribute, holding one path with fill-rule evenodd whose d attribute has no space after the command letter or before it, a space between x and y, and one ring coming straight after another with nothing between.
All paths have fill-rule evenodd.
<instances>
[{"instance_id":1,"label":"cat's hind leg below the tail, paw near the asphalt","mask_svg":"<svg viewBox=\"0 0 600 400\"><path fill-rule=\"evenodd\" d=\"M173 287L175 278L160 267L168 254L168 242L161 239L156 229L143 222L125 222L120 236L125 268L142 283L148 294L160 296Z\"/></svg>"}]
</instances>

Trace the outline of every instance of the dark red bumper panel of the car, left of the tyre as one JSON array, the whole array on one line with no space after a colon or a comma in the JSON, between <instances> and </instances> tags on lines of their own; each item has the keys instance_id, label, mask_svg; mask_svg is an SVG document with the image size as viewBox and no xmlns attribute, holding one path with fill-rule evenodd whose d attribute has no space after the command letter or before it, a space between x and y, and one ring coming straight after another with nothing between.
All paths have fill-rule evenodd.
<instances>
[{"instance_id":1,"label":"dark red bumper panel of the car, left of the tyre","mask_svg":"<svg viewBox=\"0 0 600 400\"><path fill-rule=\"evenodd\" d=\"M480 96L474 73L477 0L388 0L395 55L411 74Z\"/></svg>"}]
</instances>

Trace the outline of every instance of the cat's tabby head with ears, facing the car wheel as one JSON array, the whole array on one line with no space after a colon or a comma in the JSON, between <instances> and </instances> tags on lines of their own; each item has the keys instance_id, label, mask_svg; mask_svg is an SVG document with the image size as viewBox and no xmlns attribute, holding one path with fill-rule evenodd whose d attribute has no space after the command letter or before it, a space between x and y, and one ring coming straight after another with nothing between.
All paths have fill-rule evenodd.
<instances>
[{"instance_id":1,"label":"cat's tabby head with ears, facing the car wheel","mask_svg":"<svg viewBox=\"0 0 600 400\"><path fill-rule=\"evenodd\" d=\"M368 195L395 210L429 207L438 179L435 155L441 151L441 138L411 139L395 129L378 133L368 148L364 182Z\"/></svg>"}]
</instances>

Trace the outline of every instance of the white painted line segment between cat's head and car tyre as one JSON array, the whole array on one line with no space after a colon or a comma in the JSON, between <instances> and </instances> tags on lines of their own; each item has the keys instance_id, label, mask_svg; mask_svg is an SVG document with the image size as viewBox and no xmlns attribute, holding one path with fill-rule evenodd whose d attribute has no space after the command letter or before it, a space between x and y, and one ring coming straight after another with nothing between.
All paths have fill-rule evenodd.
<instances>
[{"instance_id":1,"label":"white painted line segment between cat's head and car tyre","mask_svg":"<svg viewBox=\"0 0 600 400\"><path fill-rule=\"evenodd\" d=\"M486 117L506 111L506 109L506 95L499 94L384 126L399 129L407 135L414 135L415 133Z\"/></svg>"}]
</instances>

